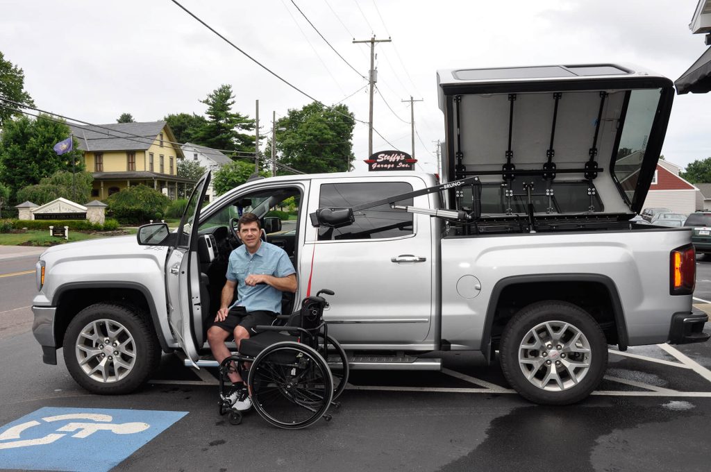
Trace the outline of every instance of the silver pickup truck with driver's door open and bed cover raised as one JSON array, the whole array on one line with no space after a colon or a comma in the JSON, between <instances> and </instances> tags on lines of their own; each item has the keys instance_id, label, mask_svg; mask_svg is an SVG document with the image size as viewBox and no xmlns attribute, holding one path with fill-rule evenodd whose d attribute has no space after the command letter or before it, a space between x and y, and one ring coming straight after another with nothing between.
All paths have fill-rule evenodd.
<instances>
[{"instance_id":1,"label":"silver pickup truck with driver's door open and bed cover raised","mask_svg":"<svg viewBox=\"0 0 711 472\"><path fill-rule=\"evenodd\" d=\"M441 182L412 171L285 176L203 208L208 173L176 232L146 225L44 252L33 300L44 362L63 347L75 380L104 394L135 390L161 352L215 365L205 330L245 211L296 268L284 311L311 287L336 292L324 318L352 369L439 370L437 353L498 353L520 395L568 404L598 385L608 345L708 338L691 307L690 230L629 221L661 150L668 79L620 65L437 77Z\"/></svg>"}]
</instances>

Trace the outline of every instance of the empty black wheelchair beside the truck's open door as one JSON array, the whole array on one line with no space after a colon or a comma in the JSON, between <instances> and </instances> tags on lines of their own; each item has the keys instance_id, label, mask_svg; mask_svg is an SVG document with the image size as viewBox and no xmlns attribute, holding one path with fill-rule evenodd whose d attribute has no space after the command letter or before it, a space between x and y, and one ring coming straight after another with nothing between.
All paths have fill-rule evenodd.
<instances>
[{"instance_id":1,"label":"empty black wheelchair beside the truck's open door","mask_svg":"<svg viewBox=\"0 0 711 472\"><path fill-rule=\"evenodd\" d=\"M240 424L242 414L225 395L228 373L236 369L246 379L252 408L269 424L301 429L331 420L327 410L340 407L336 398L348 382L348 358L338 341L328 336L321 294L304 299L301 309L277 316L282 326L257 326L260 333L240 343L240 352L220 363L220 415ZM249 411L249 410L247 410Z\"/></svg>"}]
</instances>

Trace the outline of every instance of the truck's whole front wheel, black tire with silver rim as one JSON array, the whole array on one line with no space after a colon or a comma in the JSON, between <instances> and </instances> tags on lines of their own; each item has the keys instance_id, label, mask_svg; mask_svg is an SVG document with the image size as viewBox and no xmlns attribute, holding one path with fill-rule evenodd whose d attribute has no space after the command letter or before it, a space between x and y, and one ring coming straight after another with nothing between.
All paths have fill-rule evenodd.
<instances>
[{"instance_id":1,"label":"truck's whole front wheel, black tire with silver rim","mask_svg":"<svg viewBox=\"0 0 711 472\"><path fill-rule=\"evenodd\" d=\"M136 308L117 304L94 304L77 313L67 327L63 348L74 380L99 395L133 392L149 380L161 360L149 321Z\"/></svg>"}]
</instances>

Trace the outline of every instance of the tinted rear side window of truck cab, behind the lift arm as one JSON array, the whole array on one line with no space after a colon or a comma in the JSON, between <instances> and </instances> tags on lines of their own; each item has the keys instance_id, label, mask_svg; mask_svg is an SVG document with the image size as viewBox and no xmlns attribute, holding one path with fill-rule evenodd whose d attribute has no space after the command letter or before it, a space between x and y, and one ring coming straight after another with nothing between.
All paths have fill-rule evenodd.
<instances>
[{"instance_id":1,"label":"tinted rear side window of truck cab, behind the lift arm","mask_svg":"<svg viewBox=\"0 0 711 472\"><path fill-rule=\"evenodd\" d=\"M404 182L326 183L321 186L319 207L352 207L407 192L412 192L412 186ZM412 205L412 198L402 200L400 205ZM402 237L412 232L412 213L380 205L355 212L352 225L319 228L319 241Z\"/></svg>"}]
</instances>

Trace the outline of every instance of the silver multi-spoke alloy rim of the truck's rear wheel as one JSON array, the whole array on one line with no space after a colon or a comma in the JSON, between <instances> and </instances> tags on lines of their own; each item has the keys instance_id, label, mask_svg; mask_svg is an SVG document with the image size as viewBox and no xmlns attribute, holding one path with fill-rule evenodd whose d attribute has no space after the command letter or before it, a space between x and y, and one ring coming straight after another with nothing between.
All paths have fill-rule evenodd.
<instances>
[{"instance_id":1,"label":"silver multi-spoke alloy rim of the truck's rear wheel","mask_svg":"<svg viewBox=\"0 0 711 472\"><path fill-rule=\"evenodd\" d=\"M561 392L584 379L591 363L590 343L565 321L545 321L523 336L518 347L521 372L536 387Z\"/></svg>"}]
</instances>

